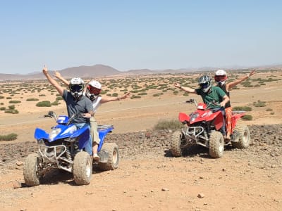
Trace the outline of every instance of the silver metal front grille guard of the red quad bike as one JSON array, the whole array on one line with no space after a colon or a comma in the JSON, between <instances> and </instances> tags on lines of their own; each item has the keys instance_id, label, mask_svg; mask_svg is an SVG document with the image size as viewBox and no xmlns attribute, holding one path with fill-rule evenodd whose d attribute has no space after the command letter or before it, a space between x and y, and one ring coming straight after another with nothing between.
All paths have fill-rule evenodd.
<instances>
[{"instance_id":1,"label":"silver metal front grille guard of the red quad bike","mask_svg":"<svg viewBox=\"0 0 282 211\"><path fill-rule=\"evenodd\" d=\"M209 144L209 139L207 137L207 132L205 132L204 127L196 126L196 127L187 127L182 129L183 134L185 134L188 139L192 139L197 144L207 147ZM202 142L204 141L204 143Z\"/></svg>"}]
</instances>

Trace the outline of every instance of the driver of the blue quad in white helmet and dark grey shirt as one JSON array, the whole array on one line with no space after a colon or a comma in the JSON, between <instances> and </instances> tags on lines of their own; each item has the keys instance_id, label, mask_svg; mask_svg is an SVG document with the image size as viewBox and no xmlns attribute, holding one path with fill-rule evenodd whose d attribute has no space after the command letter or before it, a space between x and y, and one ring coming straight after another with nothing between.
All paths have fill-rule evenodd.
<instances>
[{"instance_id":1,"label":"driver of the blue quad in white helmet and dark grey shirt","mask_svg":"<svg viewBox=\"0 0 282 211\"><path fill-rule=\"evenodd\" d=\"M68 83L68 91L63 89L63 87L61 87L61 85L49 75L47 67L44 66L42 72L48 79L49 83L57 89L59 94L63 97L63 100L66 101L68 117L71 117L77 113L84 113L84 117L75 118L73 120L73 124L75 124L78 129L82 127L89 127L90 129L90 117L94 115L94 110L90 99L82 94L85 87L85 82L80 77L73 77L71 82ZM85 146L85 151L92 156L91 136L89 136L89 140Z\"/></svg>"}]
</instances>

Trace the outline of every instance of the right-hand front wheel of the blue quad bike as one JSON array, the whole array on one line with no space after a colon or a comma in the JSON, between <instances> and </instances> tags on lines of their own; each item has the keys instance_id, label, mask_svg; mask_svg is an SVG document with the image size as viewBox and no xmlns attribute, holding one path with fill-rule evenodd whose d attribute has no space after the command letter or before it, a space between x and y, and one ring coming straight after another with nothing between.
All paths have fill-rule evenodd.
<instances>
[{"instance_id":1,"label":"right-hand front wheel of the blue quad bike","mask_svg":"<svg viewBox=\"0 0 282 211\"><path fill-rule=\"evenodd\" d=\"M90 184L92 178L92 160L88 153L79 152L73 160L73 177L78 185Z\"/></svg>"}]
</instances>

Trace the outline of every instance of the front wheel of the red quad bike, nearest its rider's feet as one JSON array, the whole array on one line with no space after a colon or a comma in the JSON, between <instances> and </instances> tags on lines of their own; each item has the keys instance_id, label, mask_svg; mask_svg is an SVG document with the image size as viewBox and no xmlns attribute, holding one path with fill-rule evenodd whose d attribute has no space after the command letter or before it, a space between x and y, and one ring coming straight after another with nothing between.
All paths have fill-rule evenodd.
<instances>
[{"instance_id":1,"label":"front wheel of the red quad bike, nearest its rider's feet","mask_svg":"<svg viewBox=\"0 0 282 211\"><path fill-rule=\"evenodd\" d=\"M224 139L221 132L212 132L209 136L209 155L212 158L221 158L224 151Z\"/></svg>"}]
</instances>

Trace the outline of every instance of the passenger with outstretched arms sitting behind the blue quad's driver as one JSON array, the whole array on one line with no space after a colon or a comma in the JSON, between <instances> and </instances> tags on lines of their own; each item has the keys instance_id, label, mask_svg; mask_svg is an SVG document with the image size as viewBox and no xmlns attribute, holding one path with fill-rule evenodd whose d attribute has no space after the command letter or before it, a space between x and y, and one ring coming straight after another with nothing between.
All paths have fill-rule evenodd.
<instances>
[{"instance_id":1,"label":"passenger with outstretched arms sitting behind the blue quad's driver","mask_svg":"<svg viewBox=\"0 0 282 211\"><path fill-rule=\"evenodd\" d=\"M60 79L64 84L68 86L69 82L61 76L60 72L56 71L55 77ZM116 96L116 97L101 96L100 95L101 90L102 90L102 85L97 80L92 79L85 87L85 91L83 93L92 102L94 113L96 113L97 108L102 103L108 103L111 101L120 101L130 96L130 92L124 94L123 96ZM100 139L99 139L99 134L98 134L98 129L97 129L98 124L94 116L90 118L90 124L91 124L91 131L92 131L91 136L93 140L93 148L92 148L93 159L99 160L100 158L99 158L99 155L97 154L97 150L98 150L98 145L100 143Z\"/></svg>"}]
</instances>

